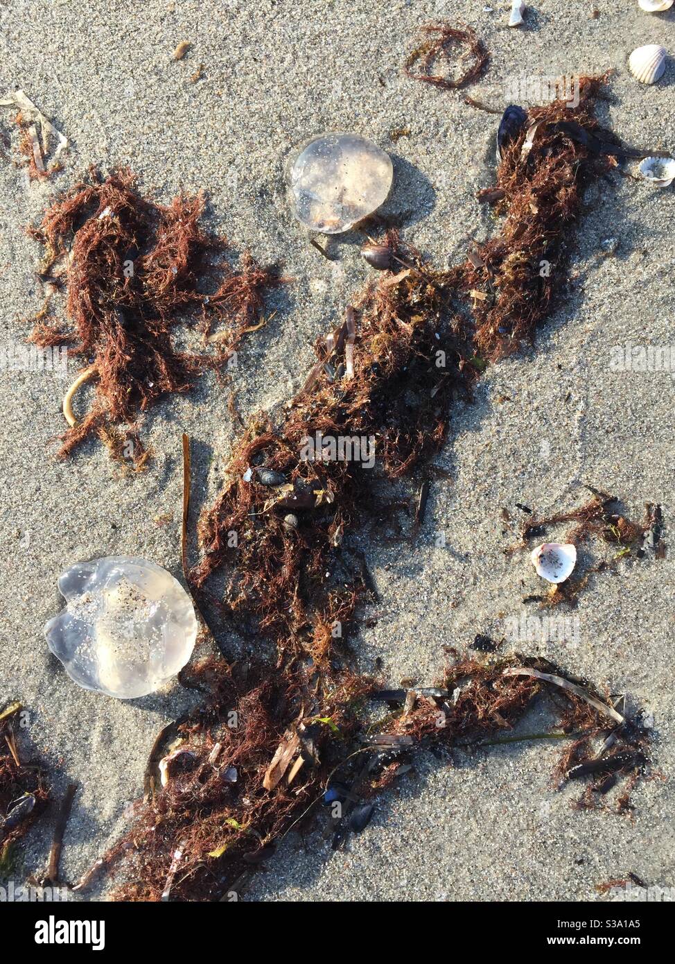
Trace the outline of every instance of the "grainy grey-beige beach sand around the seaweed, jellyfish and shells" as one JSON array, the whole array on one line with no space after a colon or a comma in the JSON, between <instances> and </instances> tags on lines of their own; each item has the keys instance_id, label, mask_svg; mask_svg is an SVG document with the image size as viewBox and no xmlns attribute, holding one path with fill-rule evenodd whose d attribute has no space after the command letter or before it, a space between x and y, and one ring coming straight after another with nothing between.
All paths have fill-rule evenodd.
<instances>
[{"instance_id":1,"label":"grainy grey-beige beach sand around the seaweed, jellyfish and shells","mask_svg":"<svg viewBox=\"0 0 675 964\"><path fill-rule=\"evenodd\" d=\"M42 301L39 250L24 228L91 164L128 164L159 201L205 188L210 227L238 251L283 260L296 279L273 295L276 316L248 338L236 373L245 415L281 404L299 388L312 342L334 326L369 270L354 235L333 242L334 262L308 245L285 199L292 147L330 129L373 138L395 164L385 210L407 212L405 238L438 263L455 263L471 239L493 229L474 193L491 183L496 119L402 75L417 28L439 17L472 24L492 51L473 96L504 107L510 77L613 67L602 119L627 143L675 147L672 64L651 88L626 66L638 44L667 46L675 13L649 15L629 0L538 0L516 30L506 27L505 5L480 0L11 2L0 9L0 94L22 88L70 149L62 174L29 183L12 163L13 114L2 109L12 142L0 163L0 342L19 342ZM181 40L192 47L175 62ZM193 83L199 64L203 77ZM409 133L397 140L402 128ZM672 518L673 378L617 372L611 358L627 341L675 340L675 196L615 176L586 201L567 299L532 352L492 366L474 403L454 411L436 459L453 478L434 482L416 548L363 537L384 615L363 629L357 652L364 669L381 656L392 683L430 682L444 646L464 651L479 631L504 635L522 598L538 591L526 555L504 554L513 536L503 506L514 516L516 501L541 512L571 508L587 483L620 495L631 516L653 501L666 524ZM612 237L616 254L602 256ZM76 370L71 362L69 376ZM205 378L145 419L154 461L144 474L123 476L95 443L58 463L53 439L64 427L66 384L51 373L0 371L0 699L20 699L30 711L24 736L53 767L56 792L70 780L80 785L63 857L65 877L74 879L126 825L154 736L194 695L175 684L117 702L71 683L41 632L60 608L57 576L77 560L115 554L145 556L179 576L181 432L195 440L198 506L218 491L236 426L224 392ZM523 641L506 650L545 653L653 713L666 779L640 786L633 819L572 810L578 789L551 786L555 744L457 752L452 766L422 755L416 775L378 802L348 852L291 835L247 899L601 899L596 885L628 871L675 884L672 561L622 561L615 574L591 581L573 615L579 631L571 644ZM537 722L528 719L522 732ZM45 864L51 827L45 819L32 832L24 872ZM105 889L87 896L104 897Z\"/></svg>"}]
</instances>

